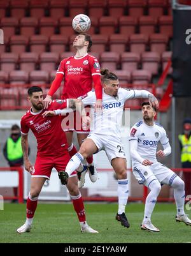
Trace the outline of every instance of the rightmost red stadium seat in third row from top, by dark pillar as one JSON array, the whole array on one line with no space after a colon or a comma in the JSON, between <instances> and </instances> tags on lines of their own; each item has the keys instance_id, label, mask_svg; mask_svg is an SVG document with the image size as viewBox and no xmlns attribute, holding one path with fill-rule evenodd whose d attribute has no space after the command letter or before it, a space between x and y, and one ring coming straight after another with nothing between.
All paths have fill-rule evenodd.
<instances>
[{"instance_id":1,"label":"rightmost red stadium seat in third row from top, by dark pillar","mask_svg":"<svg viewBox=\"0 0 191 256\"><path fill-rule=\"evenodd\" d=\"M168 38L164 34L151 34L150 36L150 50L152 52L162 52L166 51Z\"/></svg>"}]
</instances>

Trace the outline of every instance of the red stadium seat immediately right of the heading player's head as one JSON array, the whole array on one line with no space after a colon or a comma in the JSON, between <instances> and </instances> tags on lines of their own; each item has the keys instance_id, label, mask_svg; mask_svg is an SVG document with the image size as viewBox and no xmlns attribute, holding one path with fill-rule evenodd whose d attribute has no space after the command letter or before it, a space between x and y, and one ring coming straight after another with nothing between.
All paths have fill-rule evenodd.
<instances>
[{"instance_id":1,"label":"red stadium seat immediately right of the heading player's head","mask_svg":"<svg viewBox=\"0 0 191 256\"><path fill-rule=\"evenodd\" d=\"M104 36L103 34L93 34L92 35L92 52L97 52L101 54L106 50L106 45L108 43L108 36Z\"/></svg>"}]
</instances>

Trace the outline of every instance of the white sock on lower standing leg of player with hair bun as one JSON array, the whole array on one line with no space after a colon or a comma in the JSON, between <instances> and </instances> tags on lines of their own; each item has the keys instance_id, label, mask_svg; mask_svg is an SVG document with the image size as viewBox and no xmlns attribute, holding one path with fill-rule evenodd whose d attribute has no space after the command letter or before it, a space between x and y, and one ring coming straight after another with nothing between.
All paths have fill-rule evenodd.
<instances>
[{"instance_id":1,"label":"white sock on lower standing leg of player with hair bun","mask_svg":"<svg viewBox=\"0 0 191 256\"><path fill-rule=\"evenodd\" d=\"M129 195L128 179L118 179L118 214L125 213L127 199Z\"/></svg>"}]
</instances>

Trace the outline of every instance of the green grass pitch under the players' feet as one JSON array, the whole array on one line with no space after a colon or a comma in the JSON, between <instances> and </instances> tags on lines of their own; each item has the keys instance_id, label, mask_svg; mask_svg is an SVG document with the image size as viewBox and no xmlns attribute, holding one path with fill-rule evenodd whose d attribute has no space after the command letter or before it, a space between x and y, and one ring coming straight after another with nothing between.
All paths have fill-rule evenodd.
<instances>
[{"instance_id":1,"label":"green grass pitch under the players' feet","mask_svg":"<svg viewBox=\"0 0 191 256\"><path fill-rule=\"evenodd\" d=\"M191 227L175 222L174 204L157 204L152 222L159 233L140 229L144 205L130 203L129 229L115 220L117 204L85 204L87 222L99 234L81 234L71 204L38 204L30 233L15 231L25 221L25 204L4 204L0 211L0 243L191 243ZM187 212L189 213L189 212Z\"/></svg>"}]
</instances>

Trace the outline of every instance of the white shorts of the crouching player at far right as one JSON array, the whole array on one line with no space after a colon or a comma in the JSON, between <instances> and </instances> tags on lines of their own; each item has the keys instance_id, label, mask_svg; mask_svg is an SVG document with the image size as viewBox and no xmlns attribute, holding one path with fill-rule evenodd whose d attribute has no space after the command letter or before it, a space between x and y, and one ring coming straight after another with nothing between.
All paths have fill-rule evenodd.
<instances>
[{"instance_id":1,"label":"white shorts of the crouching player at far right","mask_svg":"<svg viewBox=\"0 0 191 256\"><path fill-rule=\"evenodd\" d=\"M151 183L153 179L158 179L160 183L171 186L177 176L173 170L159 162L155 162L149 166L139 163L133 167L132 172L136 179L138 179L138 183L145 184L145 186L149 186L149 183ZM162 182L164 179L166 179L165 183Z\"/></svg>"}]
</instances>

